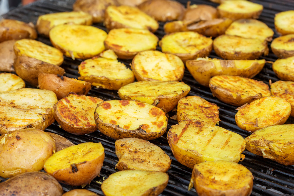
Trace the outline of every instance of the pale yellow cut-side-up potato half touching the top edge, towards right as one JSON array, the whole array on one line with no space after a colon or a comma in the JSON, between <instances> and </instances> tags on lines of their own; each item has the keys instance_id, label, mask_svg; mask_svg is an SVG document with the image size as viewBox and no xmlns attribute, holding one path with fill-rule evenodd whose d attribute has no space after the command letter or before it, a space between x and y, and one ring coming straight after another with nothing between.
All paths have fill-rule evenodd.
<instances>
[{"instance_id":1,"label":"pale yellow cut-side-up potato half touching the top edge, towards right","mask_svg":"<svg viewBox=\"0 0 294 196\"><path fill-rule=\"evenodd\" d=\"M258 19L263 10L263 5L246 0L226 0L217 9L220 17L232 20Z\"/></svg>"}]
</instances>

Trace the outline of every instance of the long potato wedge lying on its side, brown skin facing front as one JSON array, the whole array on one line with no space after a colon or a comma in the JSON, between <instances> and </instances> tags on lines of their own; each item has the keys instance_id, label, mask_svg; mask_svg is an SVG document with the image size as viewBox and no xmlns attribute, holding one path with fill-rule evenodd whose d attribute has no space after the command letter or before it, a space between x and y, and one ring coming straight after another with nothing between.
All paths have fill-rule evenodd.
<instances>
[{"instance_id":1,"label":"long potato wedge lying on its side, brown skin facing front","mask_svg":"<svg viewBox=\"0 0 294 196\"><path fill-rule=\"evenodd\" d=\"M213 76L231 75L253 78L263 68L265 59L222 60L218 58L197 58L186 61L186 67L193 78L203 86L209 86Z\"/></svg>"}]
</instances>

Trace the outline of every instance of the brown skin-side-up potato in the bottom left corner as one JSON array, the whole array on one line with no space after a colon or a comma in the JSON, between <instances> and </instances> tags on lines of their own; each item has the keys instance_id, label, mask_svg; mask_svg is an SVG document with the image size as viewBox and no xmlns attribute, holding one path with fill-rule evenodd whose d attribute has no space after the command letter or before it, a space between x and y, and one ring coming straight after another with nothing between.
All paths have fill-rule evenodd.
<instances>
[{"instance_id":1,"label":"brown skin-side-up potato in the bottom left corner","mask_svg":"<svg viewBox=\"0 0 294 196\"><path fill-rule=\"evenodd\" d=\"M45 172L26 172L0 183L2 196L47 195L61 196L62 186Z\"/></svg>"}]
</instances>

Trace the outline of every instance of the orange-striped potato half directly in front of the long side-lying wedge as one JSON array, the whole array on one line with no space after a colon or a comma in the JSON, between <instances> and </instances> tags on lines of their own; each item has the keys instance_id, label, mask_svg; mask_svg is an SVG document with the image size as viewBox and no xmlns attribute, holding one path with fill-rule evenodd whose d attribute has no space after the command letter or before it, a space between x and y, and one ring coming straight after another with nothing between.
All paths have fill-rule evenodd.
<instances>
[{"instance_id":1,"label":"orange-striped potato half directly in front of the long side-lying wedge","mask_svg":"<svg viewBox=\"0 0 294 196\"><path fill-rule=\"evenodd\" d=\"M236 106L270 96L270 88L262 81L240 76L213 76L209 88L219 100Z\"/></svg>"}]
</instances>

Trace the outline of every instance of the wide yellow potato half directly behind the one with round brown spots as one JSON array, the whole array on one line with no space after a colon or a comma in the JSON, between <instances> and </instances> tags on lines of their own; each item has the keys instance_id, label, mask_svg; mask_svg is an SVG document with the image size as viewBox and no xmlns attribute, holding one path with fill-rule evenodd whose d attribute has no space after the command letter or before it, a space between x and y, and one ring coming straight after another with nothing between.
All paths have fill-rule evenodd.
<instances>
[{"instance_id":1,"label":"wide yellow potato half directly behind the one with round brown spots","mask_svg":"<svg viewBox=\"0 0 294 196\"><path fill-rule=\"evenodd\" d=\"M182 97L185 97L190 86L178 81L140 81L130 83L118 90L123 100L135 100L154 105L164 112L171 111Z\"/></svg>"}]
</instances>

